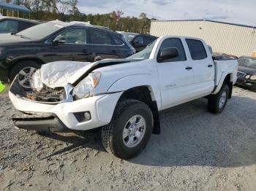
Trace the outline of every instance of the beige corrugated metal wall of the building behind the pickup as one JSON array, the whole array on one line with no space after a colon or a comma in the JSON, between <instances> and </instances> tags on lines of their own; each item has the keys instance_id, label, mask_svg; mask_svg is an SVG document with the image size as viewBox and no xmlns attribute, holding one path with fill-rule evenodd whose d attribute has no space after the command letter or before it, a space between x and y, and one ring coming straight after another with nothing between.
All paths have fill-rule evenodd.
<instances>
[{"instance_id":1,"label":"beige corrugated metal wall of the building behind the pickup","mask_svg":"<svg viewBox=\"0 0 256 191\"><path fill-rule=\"evenodd\" d=\"M252 55L256 50L256 29L207 20L152 21L150 34L178 35L204 39L214 52Z\"/></svg>"}]
</instances>

